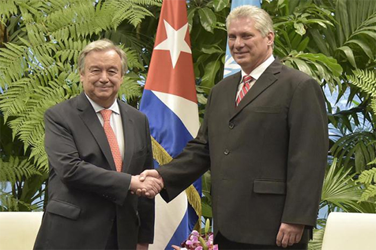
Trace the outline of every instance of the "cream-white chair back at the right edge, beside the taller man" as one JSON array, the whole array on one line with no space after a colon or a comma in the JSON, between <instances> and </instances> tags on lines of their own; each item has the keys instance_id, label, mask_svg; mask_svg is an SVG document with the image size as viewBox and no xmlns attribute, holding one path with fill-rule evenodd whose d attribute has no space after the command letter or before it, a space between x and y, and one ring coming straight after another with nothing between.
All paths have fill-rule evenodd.
<instances>
[{"instance_id":1,"label":"cream-white chair back at the right edge, beside the taller man","mask_svg":"<svg viewBox=\"0 0 376 250\"><path fill-rule=\"evenodd\" d=\"M322 250L376 250L376 214L332 212Z\"/></svg>"}]
</instances>

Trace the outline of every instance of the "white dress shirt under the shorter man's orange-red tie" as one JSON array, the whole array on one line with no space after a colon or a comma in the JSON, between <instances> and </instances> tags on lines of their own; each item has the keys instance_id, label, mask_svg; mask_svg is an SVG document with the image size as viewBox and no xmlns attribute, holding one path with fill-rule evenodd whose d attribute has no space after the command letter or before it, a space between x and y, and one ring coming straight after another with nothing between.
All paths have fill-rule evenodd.
<instances>
[{"instance_id":1,"label":"white dress shirt under the shorter man's orange-red tie","mask_svg":"<svg viewBox=\"0 0 376 250\"><path fill-rule=\"evenodd\" d=\"M104 119L102 117L102 114L100 113L101 110L106 109L96 103L95 101L91 100L90 97L87 96L85 93L87 99L91 103L91 106L94 108L94 110L97 113L97 116L99 118L99 121L101 122L102 126L104 123ZM122 122L122 117L120 115L120 108L118 102L114 101L114 103L109 107L108 109L112 110L111 116L110 116L110 125L112 130L115 133L116 140L118 141L119 149L120 149L120 154L122 156L122 159L124 161L124 132L123 132L123 122Z\"/></svg>"}]
</instances>

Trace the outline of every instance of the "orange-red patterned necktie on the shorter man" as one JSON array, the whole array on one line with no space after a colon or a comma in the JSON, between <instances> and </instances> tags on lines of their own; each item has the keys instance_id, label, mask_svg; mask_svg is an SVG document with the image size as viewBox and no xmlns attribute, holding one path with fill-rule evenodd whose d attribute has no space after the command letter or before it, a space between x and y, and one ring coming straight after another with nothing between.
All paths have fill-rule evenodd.
<instances>
[{"instance_id":1,"label":"orange-red patterned necktie on the shorter man","mask_svg":"<svg viewBox=\"0 0 376 250\"><path fill-rule=\"evenodd\" d=\"M112 130L111 124L110 124L110 117L111 117L112 110L103 109L100 111L100 113L102 114L102 117L104 119L103 128L105 129L107 140L109 141L109 144L110 144L112 157L114 158L114 162L116 166L116 171L121 172L122 166L123 166L122 156L120 154L118 141L116 140L116 135L114 131Z\"/></svg>"}]
</instances>

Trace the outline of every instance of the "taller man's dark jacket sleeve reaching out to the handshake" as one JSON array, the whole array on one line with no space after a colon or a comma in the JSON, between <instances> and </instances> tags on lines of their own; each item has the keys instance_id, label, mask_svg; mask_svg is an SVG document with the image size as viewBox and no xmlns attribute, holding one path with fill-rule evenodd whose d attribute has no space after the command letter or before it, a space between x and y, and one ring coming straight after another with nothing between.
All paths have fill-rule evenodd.
<instances>
[{"instance_id":1,"label":"taller man's dark jacket sleeve reaching out to the handshake","mask_svg":"<svg viewBox=\"0 0 376 250\"><path fill-rule=\"evenodd\" d=\"M197 137L185 146L180 155L157 169L165 186L160 194L166 202L174 199L210 168L208 120L211 96L212 92Z\"/></svg>"}]
</instances>

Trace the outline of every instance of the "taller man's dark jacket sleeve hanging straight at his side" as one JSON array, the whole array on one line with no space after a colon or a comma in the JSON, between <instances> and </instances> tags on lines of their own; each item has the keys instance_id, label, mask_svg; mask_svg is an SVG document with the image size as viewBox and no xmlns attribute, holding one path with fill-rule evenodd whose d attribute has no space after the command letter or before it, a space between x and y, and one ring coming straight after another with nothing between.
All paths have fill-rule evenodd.
<instances>
[{"instance_id":1,"label":"taller man's dark jacket sleeve hanging straight at his side","mask_svg":"<svg viewBox=\"0 0 376 250\"><path fill-rule=\"evenodd\" d=\"M287 195L281 222L315 226L329 142L324 95L314 79L295 89L288 126Z\"/></svg>"}]
</instances>

